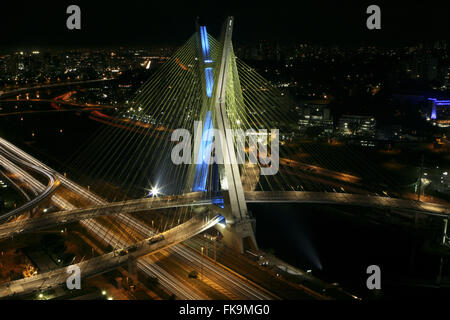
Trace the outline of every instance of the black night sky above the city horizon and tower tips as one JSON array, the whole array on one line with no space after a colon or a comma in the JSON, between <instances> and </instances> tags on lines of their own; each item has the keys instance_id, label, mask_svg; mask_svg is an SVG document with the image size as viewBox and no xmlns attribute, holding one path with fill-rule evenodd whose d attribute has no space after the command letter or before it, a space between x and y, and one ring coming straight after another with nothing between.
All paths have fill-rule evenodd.
<instances>
[{"instance_id":1,"label":"black night sky above the city horizon and tower tips","mask_svg":"<svg viewBox=\"0 0 450 320\"><path fill-rule=\"evenodd\" d=\"M6 3L7 2L7 3ZM263 39L318 44L395 44L448 38L449 1L3 1L0 47L179 45L198 16L217 35L236 17L234 41ZM447 4L446 4L447 2ZM82 29L67 30L66 8L77 4ZM382 12L382 30L366 28L370 4Z\"/></svg>"}]
</instances>

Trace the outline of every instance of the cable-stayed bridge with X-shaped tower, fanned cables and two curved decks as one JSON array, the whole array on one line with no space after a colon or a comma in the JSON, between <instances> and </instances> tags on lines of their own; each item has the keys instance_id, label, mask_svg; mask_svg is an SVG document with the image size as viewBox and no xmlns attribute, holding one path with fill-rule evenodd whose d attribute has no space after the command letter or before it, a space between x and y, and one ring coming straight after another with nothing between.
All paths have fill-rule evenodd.
<instances>
[{"instance_id":1,"label":"cable-stayed bridge with X-shaped tower, fanned cables and two curved decks","mask_svg":"<svg viewBox=\"0 0 450 320\"><path fill-rule=\"evenodd\" d=\"M170 192L167 193L174 196L107 203L1 139L2 149L13 155L16 166L27 163L46 172L50 177L47 188L31 176L27 179L40 190L42 199L51 197L64 211L3 224L0 236L11 237L75 221L81 221L95 232L100 229L94 220L96 217L110 215L126 220L129 218L124 214L157 209L172 208L180 217L188 217L176 227L177 232L172 229L162 232L162 242L150 243L153 236L138 242L137 251L130 250L135 245L116 240L106 230L104 237L109 236L109 243L117 249L94 258L96 260L83 262L83 268L89 270L86 273L92 276L175 245L219 222L225 222L220 231L229 247L240 252L255 249L255 221L247 202L347 204L441 217L449 214L448 207L432 203L362 194L293 191L292 185L302 177L296 177L289 168L306 166L305 170L311 169L310 165L294 160L295 148L288 142L286 146L278 146L279 136L292 135L295 105L235 56L231 41L233 24L232 17L226 20L219 41L209 35L205 27L197 26L197 32L143 84L124 110L105 115L105 119L114 124L114 130L101 132L96 141L101 141L102 147L92 143L88 150L89 160L92 160L89 162L93 164L89 170L96 177L115 176L123 181L124 189L131 191L148 179L148 172L154 180L156 170L157 183L153 185L168 185ZM117 127L120 130L116 130ZM184 134L175 135L173 139L180 129ZM277 134L273 134L272 129L276 129ZM245 134L234 135L236 132ZM182 148L174 149L177 145ZM178 150L175 157L181 158L181 163L171 161L173 150ZM213 161L219 158L222 161ZM279 168L280 164L285 167ZM265 171L273 174L262 174ZM314 168L314 172L321 179L331 177L346 183L359 179L326 169ZM52 196L57 181L90 198L95 205L75 208L65 199ZM42 190L46 190L45 193ZM37 204L34 201L23 210ZM125 253L121 255L121 252ZM2 295L20 294L63 284L65 270L4 284L0 292Z\"/></svg>"}]
</instances>

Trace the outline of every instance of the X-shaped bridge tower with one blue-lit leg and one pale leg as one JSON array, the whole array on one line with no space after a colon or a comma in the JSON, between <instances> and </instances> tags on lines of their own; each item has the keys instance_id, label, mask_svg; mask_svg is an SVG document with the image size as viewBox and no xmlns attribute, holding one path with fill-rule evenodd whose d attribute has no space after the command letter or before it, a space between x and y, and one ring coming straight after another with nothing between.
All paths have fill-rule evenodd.
<instances>
[{"instance_id":1,"label":"X-shaped bridge tower with one blue-lit leg and one pale leg","mask_svg":"<svg viewBox=\"0 0 450 320\"><path fill-rule=\"evenodd\" d=\"M228 83L231 72L235 69L231 34L233 31L233 17L229 17L224 25L221 39L221 52L211 57L208 33L206 27L198 26L199 59L201 78L204 87L201 117L204 119L201 130L195 128L194 152L190 175L194 192L214 193L220 190L223 196L223 209L221 213L226 218L226 228L221 230L224 241L228 246L234 247L240 252L244 248L257 248L254 236L254 220L250 218L244 197L244 189L234 150L234 138L228 137L228 129L231 128L228 119L227 93L233 92L233 82ZM230 88L230 86L232 88ZM213 135L210 129L216 129L221 133L223 141L214 140L215 148L220 148L223 155L223 164L210 164L211 144ZM200 132L201 131L201 132Z\"/></svg>"}]
</instances>

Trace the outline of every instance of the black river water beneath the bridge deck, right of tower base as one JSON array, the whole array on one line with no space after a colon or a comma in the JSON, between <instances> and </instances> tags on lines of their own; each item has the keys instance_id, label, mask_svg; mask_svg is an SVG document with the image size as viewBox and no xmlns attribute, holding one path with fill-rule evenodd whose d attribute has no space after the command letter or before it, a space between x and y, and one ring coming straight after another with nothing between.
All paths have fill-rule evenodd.
<instances>
[{"instance_id":1,"label":"black river water beneath the bridge deck, right of tower base","mask_svg":"<svg viewBox=\"0 0 450 320\"><path fill-rule=\"evenodd\" d=\"M363 297L374 297L366 287L367 267L381 269L382 297L444 298L449 290L417 287L434 285L440 257L422 250L433 234L358 218L364 208L306 204L249 204L256 217L261 248L329 282L338 282ZM443 276L449 276L444 259ZM408 284L408 285L406 285Z\"/></svg>"}]
</instances>

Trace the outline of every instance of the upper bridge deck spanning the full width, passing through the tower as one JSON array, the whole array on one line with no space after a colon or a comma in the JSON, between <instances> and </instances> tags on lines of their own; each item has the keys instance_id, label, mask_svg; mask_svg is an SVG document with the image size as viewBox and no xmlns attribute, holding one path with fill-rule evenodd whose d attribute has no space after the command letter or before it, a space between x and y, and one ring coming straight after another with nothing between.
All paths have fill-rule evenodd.
<instances>
[{"instance_id":1,"label":"upper bridge deck spanning the full width, passing through the tower","mask_svg":"<svg viewBox=\"0 0 450 320\"><path fill-rule=\"evenodd\" d=\"M213 199L205 199L205 197L206 194L204 193L193 192L184 196L128 200L102 204L91 208L49 213L39 218L20 220L0 225L0 239L26 232L44 230L54 226L61 226L98 216L136 213L185 206L211 206L215 211L220 212L220 208L212 204ZM448 217L450 214L450 208L441 204L348 193L250 191L245 192L245 199L247 203L337 204L372 208L401 209L440 217Z\"/></svg>"}]
</instances>

